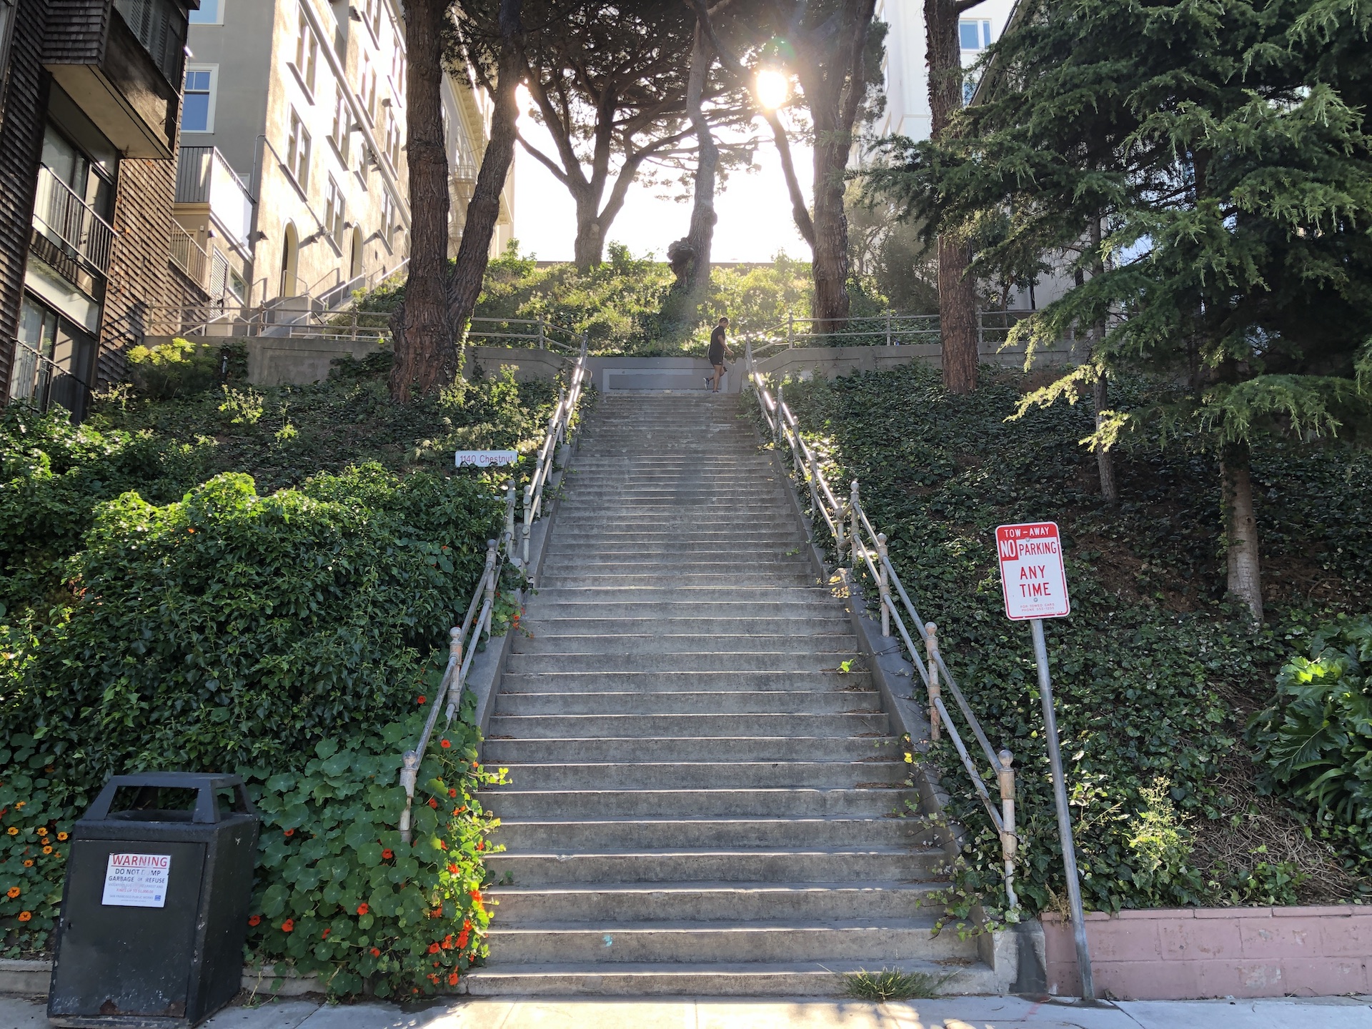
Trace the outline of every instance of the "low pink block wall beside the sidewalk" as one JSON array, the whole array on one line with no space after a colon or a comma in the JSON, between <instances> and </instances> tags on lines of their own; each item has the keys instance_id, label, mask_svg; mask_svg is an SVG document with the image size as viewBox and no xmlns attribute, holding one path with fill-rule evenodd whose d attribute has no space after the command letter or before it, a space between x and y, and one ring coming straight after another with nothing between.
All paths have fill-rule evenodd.
<instances>
[{"instance_id":1,"label":"low pink block wall beside the sidewalk","mask_svg":"<svg viewBox=\"0 0 1372 1029\"><path fill-rule=\"evenodd\" d=\"M1081 989L1072 925L1044 915L1048 992ZM1096 993L1118 1000L1372 992L1372 906L1089 912Z\"/></svg>"}]
</instances>

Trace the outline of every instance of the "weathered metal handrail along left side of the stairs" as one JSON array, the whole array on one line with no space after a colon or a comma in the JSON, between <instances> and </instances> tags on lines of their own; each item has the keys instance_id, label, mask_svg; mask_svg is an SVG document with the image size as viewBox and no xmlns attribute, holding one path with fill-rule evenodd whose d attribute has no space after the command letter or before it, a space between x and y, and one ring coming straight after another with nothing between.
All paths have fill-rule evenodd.
<instances>
[{"instance_id":1,"label":"weathered metal handrail along left side of the stairs","mask_svg":"<svg viewBox=\"0 0 1372 1029\"><path fill-rule=\"evenodd\" d=\"M414 804L414 786L418 782L420 764L424 761L424 752L428 749L438 724L439 711L445 712L445 724L451 724L457 709L462 702L462 690L466 689L466 674L476 656L476 645L482 639L482 632L491 628L491 615L495 609L495 587L501 580L505 563L516 565L524 579L532 584L530 569L530 535L534 521L538 519L542 502L543 487L547 484L557 454L557 445L567 442L572 431L578 403L582 397L582 386L590 381L590 372L586 369L587 339L582 336L580 353L572 365L567 387L558 391L557 406L547 420L547 431L538 449L538 458L528 486L524 487L524 524L514 525L514 510L517 506L514 482L505 490L505 521L499 539L486 542L486 569L472 591L472 600L466 605L466 617L461 626L449 630L447 667L439 681L438 693L429 707L428 718L424 720L424 731L420 734L414 748L405 752L401 767L401 786L405 788L405 811L401 814L401 840L410 842L412 823L410 811ZM446 700L446 705L445 705Z\"/></svg>"}]
</instances>

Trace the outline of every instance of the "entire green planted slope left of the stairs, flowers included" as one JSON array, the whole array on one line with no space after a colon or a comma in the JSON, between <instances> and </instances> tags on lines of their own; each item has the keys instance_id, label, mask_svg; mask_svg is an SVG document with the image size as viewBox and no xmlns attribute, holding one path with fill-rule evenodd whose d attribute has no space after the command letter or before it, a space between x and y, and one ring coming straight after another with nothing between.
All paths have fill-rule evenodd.
<instances>
[{"instance_id":1,"label":"entire green planted slope left of the stairs, flowers included","mask_svg":"<svg viewBox=\"0 0 1372 1029\"><path fill-rule=\"evenodd\" d=\"M399 756L504 510L495 483L434 454L530 446L552 390L497 379L395 409L383 375L114 398L80 428L5 412L10 956L49 945L71 823L106 778L180 768L244 774L263 815L254 959L383 996L450 989L482 959L493 820L475 792L498 774L469 705L421 768L413 847L394 829Z\"/></svg>"}]
</instances>

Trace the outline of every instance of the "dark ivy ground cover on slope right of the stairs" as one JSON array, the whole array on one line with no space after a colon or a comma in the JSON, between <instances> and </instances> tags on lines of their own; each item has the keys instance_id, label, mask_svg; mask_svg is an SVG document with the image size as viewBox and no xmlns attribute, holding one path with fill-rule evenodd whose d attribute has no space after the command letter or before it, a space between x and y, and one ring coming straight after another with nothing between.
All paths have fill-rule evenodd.
<instances>
[{"instance_id":1,"label":"dark ivy ground cover on slope right of the stairs","mask_svg":"<svg viewBox=\"0 0 1372 1029\"><path fill-rule=\"evenodd\" d=\"M1268 624L1254 632L1222 598L1211 458L1120 453L1124 502L1110 509L1095 457L1077 445L1089 412L1063 405L1006 423L1019 395L1018 376L1002 375L951 397L922 365L786 387L834 480L860 482L992 744L1015 755L1028 911L1062 907L1061 856L1029 628L1004 617L992 541L997 524L1029 520L1056 520L1065 536L1073 613L1050 622L1047 637L1087 904L1367 896L1372 853L1288 792L1265 796L1270 779L1244 729L1320 624L1367 609L1372 458L1254 453L1269 598ZM934 759L970 833L955 910L975 897L1000 908L999 841L947 742Z\"/></svg>"}]
</instances>

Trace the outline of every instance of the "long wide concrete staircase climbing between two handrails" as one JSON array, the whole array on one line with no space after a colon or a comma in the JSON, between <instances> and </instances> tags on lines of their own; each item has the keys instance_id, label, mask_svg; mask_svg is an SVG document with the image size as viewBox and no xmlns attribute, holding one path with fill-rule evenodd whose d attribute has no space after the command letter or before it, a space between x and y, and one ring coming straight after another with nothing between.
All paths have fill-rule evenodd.
<instances>
[{"instance_id":1,"label":"long wide concrete staircase climbing between two handrails","mask_svg":"<svg viewBox=\"0 0 1372 1029\"><path fill-rule=\"evenodd\" d=\"M510 785L472 993L837 993L899 966L981 992L933 937L918 818L841 601L734 397L601 399L484 760ZM860 667L860 660L853 660Z\"/></svg>"}]
</instances>

